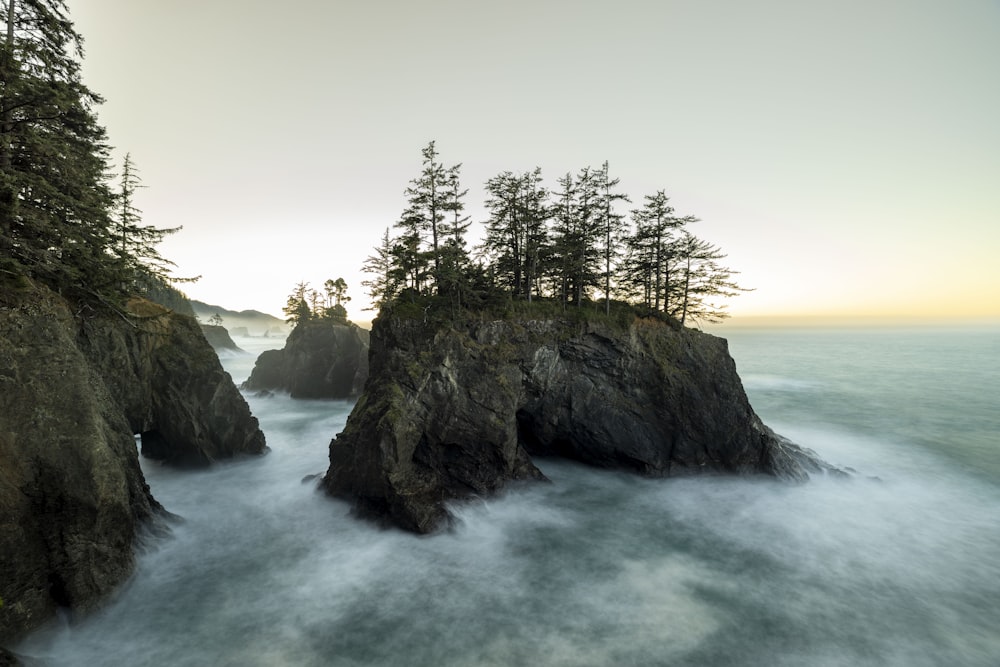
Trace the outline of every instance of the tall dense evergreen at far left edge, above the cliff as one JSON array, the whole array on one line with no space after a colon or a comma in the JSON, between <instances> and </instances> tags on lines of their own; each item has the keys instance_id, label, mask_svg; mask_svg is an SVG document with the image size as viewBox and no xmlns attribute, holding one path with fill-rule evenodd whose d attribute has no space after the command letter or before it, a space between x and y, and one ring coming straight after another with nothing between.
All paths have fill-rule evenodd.
<instances>
[{"instance_id":1,"label":"tall dense evergreen at far left edge, above the cliff","mask_svg":"<svg viewBox=\"0 0 1000 667\"><path fill-rule=\"evenodd\" d=\"M8 0L0 14L0 269L80 294L120 290L82 39L62 0Z\"/></svg>"}]
</instances>

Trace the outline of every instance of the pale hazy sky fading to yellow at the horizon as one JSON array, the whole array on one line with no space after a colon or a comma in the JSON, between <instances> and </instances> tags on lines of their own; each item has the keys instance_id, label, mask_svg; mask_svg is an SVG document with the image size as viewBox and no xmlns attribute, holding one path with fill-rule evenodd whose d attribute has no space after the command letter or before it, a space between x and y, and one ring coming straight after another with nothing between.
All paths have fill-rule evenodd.
<instances>
[{"instance_id":1,"label":"pale hazy sky fading to yellow at the horizon","mask_svg":"<svg viewBox=\"0 0 1000 667\"><path fill-rule=\"evenodd\" d=\"M757 315L1000 317L998 0L69 0L193 298L280 315L364 258L435 140L482 184L607 160Z\"/></svg>"}]
</instances>

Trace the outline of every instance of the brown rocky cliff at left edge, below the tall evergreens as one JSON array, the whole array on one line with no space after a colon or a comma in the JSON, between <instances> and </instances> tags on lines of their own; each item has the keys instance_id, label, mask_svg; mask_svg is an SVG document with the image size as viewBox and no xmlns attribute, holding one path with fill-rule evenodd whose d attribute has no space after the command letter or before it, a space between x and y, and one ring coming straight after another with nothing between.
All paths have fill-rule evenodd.
<instances>
[{"instance_id":1,"label":"brown rocky cliff at left edge, below the tall evergreens","mask_svg":"<svg viewBox=\"0 0 1000 667\"><path fill-rule=\"evenodd\" d=\"M0 290L0 642L59 607L93 608L131 573L162 514L135 434L180 464L266 450L197 323L145 301L128 310Z\"/></svg>"}]
</instances>

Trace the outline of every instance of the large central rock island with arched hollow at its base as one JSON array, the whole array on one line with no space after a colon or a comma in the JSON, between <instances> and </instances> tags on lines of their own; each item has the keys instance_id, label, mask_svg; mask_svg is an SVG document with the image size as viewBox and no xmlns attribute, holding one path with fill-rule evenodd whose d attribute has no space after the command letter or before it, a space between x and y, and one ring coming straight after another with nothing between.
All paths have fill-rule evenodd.
<instances>
[{"instance_id":1,"label":"large central rock island with arched hollow at its base","mask_svg":"<svg viewBox=\"0 0 1000 667\"><path fill-rule=\"evenodd\" d=\"M652 319L434 326L380 317L371 377L323 485L415 532L449 500L539 479L533 455L649 476L823 464L754 414L726 341Z\"/></svg>"}]
</instances>

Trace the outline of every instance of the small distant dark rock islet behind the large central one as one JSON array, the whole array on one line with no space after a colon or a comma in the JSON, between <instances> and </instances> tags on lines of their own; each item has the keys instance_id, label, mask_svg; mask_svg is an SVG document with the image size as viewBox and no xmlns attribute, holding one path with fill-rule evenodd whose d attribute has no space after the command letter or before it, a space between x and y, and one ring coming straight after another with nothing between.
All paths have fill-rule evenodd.
<instances>
[{"instance_id":1,"label":"small distant dark rock islet behind the large central one","mask_svg":"<svg viewBox=\"0 0 1000 667\"><path fill-rule=\"evenodd\" d=\"M284 348L257 357L243 388L287 391L292 398L357 396L368 379L368 343L368 332L353 324L300 324Z\"/></svg>"}]
</instances>

